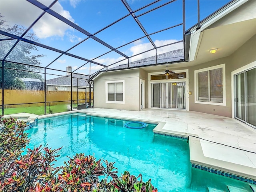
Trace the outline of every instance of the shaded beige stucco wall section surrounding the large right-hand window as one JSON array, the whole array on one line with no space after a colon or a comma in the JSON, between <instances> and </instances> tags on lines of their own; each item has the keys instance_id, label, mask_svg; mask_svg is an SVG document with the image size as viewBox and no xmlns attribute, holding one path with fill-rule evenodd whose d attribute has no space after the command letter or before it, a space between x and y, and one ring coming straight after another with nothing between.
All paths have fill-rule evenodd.
<instances>
[{"instance_id":1,"label":"shaded beige stucco wall section surrounding the large right-hand window","mask_svg":"<svg viewBox=\"0 0 256 192\"><path fill-rule=\"evenodd\" d=\"M216 114L221 116L232 117L232 100L231 100L231 72L256 61L256 35L250 38L245 44L243 44L232 55L213 60L210 62L202 63L196 66L189 67L189 90L192 92L189 98L189 110L204 112L208 114ZM194 102L194 71L210 66L216 66L219 64L226 64L226 106L197 104Z\"/></svg>"}]
</instances>

